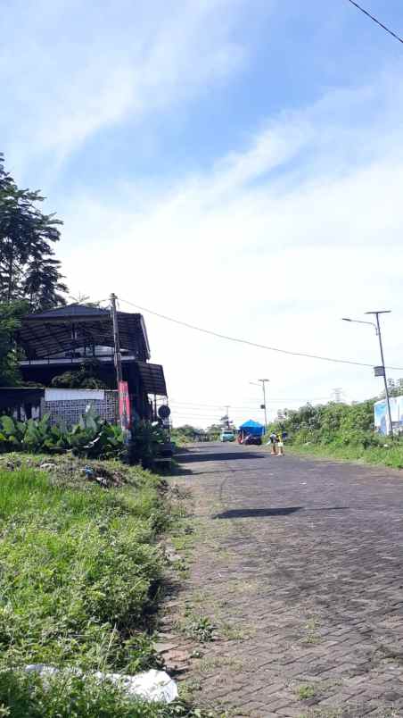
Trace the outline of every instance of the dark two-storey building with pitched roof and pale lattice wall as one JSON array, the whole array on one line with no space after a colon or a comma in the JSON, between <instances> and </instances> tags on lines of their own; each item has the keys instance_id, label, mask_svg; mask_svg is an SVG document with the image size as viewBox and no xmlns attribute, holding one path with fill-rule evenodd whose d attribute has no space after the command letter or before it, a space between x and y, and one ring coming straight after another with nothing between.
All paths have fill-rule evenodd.
<instances>
[{"instance_id":1,"label":"dark two-storey building with pitched roof and pale lattice wall","mask_svg":"<svg viewBox=\"0 0 403 718\"><path fill-rule=\"evenodd\" d=\"M167 397L163 368L149 363L150 346L142 314L118 313L123 380L127 381L132 415L155 418L157 397ZM118 391L113 355L111 313L87 305L69 305L29 314L18 344L24 354L24 381L45 388L2 388L0 410L25 419L50 413L53 422L74 423L92 404L108 421L118 420ZM52 380L77 371L93 360L105 389L53 388Z\"/></svg>"}]
</instances>

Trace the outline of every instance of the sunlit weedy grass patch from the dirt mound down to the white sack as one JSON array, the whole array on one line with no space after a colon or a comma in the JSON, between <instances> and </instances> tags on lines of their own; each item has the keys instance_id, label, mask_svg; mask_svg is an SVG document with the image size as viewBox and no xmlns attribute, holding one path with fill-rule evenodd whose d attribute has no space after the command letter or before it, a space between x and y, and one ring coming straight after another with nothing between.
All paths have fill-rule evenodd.
<instances>
[{"instance_id":1,"label":"sunlit weedy grass patch from the dirt mound down to the white sack","mask_svg":"<svg viewBox=\"0 0 403 718\"><path fill-rule=\"evenodd\" d=\"M0 647L4 663L136 672L154 663L139 634L160 577L152 480L84 490L33 470L0 472Z\"/></svg>"}]
</instances>

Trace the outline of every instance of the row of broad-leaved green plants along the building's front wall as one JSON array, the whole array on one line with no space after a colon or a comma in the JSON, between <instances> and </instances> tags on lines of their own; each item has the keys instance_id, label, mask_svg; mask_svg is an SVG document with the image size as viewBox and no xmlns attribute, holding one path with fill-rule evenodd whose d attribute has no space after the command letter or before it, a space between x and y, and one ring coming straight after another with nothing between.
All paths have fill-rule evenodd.
<instances>
[{"instance_id":1,"label":"row of broad-leaved green plants along the building's front wall","mask_svg":"<svg viewBox=\"0 0 403 718\"><path fill-rule=\"evenodd\" d=\"M119 426L104 422L92 407L71 429L51 425L49 416L17 422L11 416L0 418L0 452L31 451L33 454L60 454L71 451L87 458L122 455L124 437Z\"/></svg>"}]
</instances>

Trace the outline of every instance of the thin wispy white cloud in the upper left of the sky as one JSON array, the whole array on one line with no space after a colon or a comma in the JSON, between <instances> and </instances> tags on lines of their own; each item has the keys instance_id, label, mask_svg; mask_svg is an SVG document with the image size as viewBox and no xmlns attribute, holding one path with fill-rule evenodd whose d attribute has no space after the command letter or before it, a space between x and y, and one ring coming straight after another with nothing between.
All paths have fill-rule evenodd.
<instances>
[{"instance_id":1,"label":"thin wispy white cloud in the upper left of the sky","mask_svg":"<svg viewBox=\"0 0 403 718\"><path fill-rule=\"evenodd\" d=\"M242 5L59 2L24 4L24 13L16 4L0 51L8 88L0 129L12 165L60 163L98 130L189 102L225 79L244 61L232 38Z\"/></svg>"}]
</instances>

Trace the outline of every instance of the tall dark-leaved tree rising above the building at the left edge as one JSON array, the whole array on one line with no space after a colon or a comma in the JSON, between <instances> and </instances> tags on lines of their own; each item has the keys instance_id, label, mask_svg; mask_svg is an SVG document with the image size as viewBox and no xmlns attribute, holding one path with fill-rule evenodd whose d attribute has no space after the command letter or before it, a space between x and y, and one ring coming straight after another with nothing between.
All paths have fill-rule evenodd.
<instances>
[{"instance_id":1,"label":"tall dark-leaved tree rising above the building at the left edge","mask_svg":"<svg viewBox=\"0 0 403 718\"><path fill-rule=\"evenodd\" d=\"M0 301L27 299L31 311L66 303L61 263L53 258L62 221L40 212L44 199L17 187L0 154Z\"/></svg>"}]
</instances>

